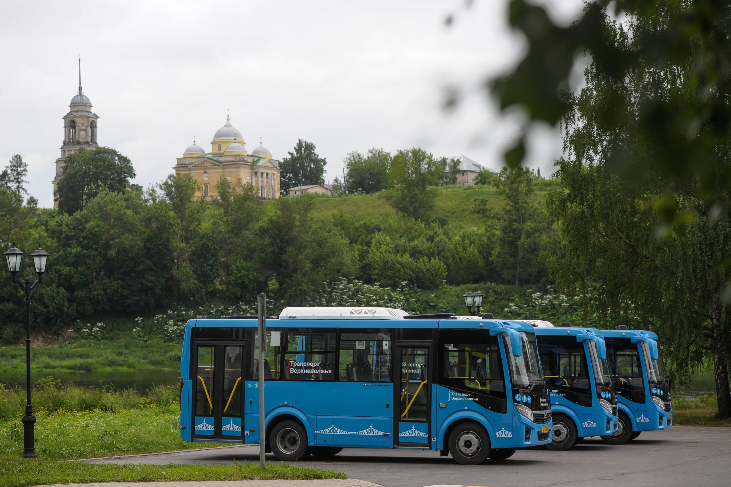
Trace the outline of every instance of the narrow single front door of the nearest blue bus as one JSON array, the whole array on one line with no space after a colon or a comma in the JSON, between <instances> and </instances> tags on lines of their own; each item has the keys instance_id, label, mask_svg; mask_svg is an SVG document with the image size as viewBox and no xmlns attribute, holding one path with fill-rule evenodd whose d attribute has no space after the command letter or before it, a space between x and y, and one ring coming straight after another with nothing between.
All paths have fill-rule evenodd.
<instances>
[{"instance_id":1,"label":"narrow single front door of the nearest blue bus","mask_svg":"<svg viewBox=\"0 0 731 487\"><path fill-rule=\"evenodd\" d=\"M431 342L395 347L394 410L396 446L430 445L431 436ZM398 436L396 436L398 434Z\"/></svg>"}]
</instances>

